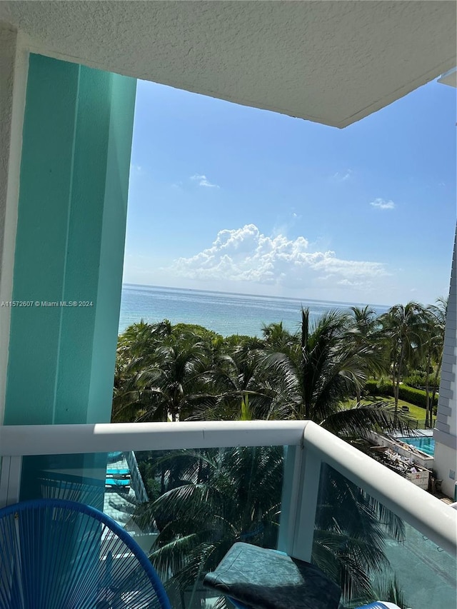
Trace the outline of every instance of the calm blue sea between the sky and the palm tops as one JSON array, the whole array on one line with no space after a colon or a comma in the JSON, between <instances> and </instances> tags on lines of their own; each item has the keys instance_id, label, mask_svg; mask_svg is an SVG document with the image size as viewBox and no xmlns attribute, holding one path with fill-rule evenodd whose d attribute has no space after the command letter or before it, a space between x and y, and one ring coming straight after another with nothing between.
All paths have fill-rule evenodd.
<instances>
[{"instance_id":1,"label":"calm blue sea between the sky and the palm tops","mask_svg":"<svg viewBox=\"0 0 457 609\"><path fill-rule=\"evenodd\" d=\"M367 303L316 301L306 298L250 296L226 292L163 288L159 286L122 286L119 333L138 321L156 323L168 319L175 323L196 323L222 336L244 334L262 336L262 326L282 321L291 332L298 330L301 307L309 308L311 320L325 311L347 311L350 306ZM371 305L378 315L388 307Z\"/></svg>"}]
</instances>

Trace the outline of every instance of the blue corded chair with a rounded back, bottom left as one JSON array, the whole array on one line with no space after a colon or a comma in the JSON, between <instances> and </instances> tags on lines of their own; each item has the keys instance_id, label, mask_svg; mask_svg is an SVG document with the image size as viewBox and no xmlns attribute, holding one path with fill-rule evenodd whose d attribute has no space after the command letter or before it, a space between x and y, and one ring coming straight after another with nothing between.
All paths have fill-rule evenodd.
<instances>
[{"instance_id":1,"label":"blue corded chair with a rounded back, bottom left","mask_svg":"<svg viewBox=\"0 0 457 609\"><path fill-rule=\"evenodd\" d=\"M83 503L0 510L0 609L171 609L139 545Z\"/></svg>"}]
</instances>

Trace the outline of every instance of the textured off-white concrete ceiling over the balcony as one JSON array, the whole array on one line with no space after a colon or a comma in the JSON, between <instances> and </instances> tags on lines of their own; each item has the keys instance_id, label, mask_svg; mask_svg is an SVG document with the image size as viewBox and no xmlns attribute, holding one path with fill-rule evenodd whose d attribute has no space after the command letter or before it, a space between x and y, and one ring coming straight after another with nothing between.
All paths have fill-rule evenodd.
<instances>
[{"instance_id":1,"label":"textured off-white concrete ceiling over the balcony","mask_svg":"<svg viewBox=\"0 0 457 609\"><path fill-rule=\"evenodd\" d=\"M0 1L31 50L343 127L456 65L454 1Z\"/></svg>"}]
</instances>

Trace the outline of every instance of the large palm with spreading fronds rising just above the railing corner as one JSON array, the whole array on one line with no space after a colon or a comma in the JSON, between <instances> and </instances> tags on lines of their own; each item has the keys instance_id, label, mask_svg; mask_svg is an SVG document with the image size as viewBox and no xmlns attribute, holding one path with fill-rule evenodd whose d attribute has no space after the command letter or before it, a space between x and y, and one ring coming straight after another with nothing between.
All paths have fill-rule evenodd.
<instances>
[{"instance_id":1,"label":"large palm with spreading fronds rising just above the railing corner","mask_svg":"<svg viewBox=\"0 0 457 609\"><path fill-rule=\"evenodd\" d=\"M283 353L269 353L264 365L294 418L309 419L345 437L376 428L393 431L402 421L386 403L342 406L366 381L367 361L375 361L372 346L354 342L353 336L346 313L331 311L311 322L309 310L303 309L300 343Z\"/></svg>"}]
</instances>

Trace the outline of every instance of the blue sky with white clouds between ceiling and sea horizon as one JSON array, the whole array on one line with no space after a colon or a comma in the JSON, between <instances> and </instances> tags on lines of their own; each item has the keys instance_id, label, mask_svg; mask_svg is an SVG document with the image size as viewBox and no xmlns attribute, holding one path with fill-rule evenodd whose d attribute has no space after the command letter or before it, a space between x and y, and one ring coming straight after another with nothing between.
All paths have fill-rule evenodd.
<instances>
[{"instance_id":1,"label":"blue sky with white clouds between ceiling and sea horizon","mask_svg":"<svg viewBox=\"0 0 457 609\"><path fill-rule=\"evenodd\" d=\"M450 86L340 130L138 83L126 283L433 303L455 223Z\"/></svg>"}]
</instances>

